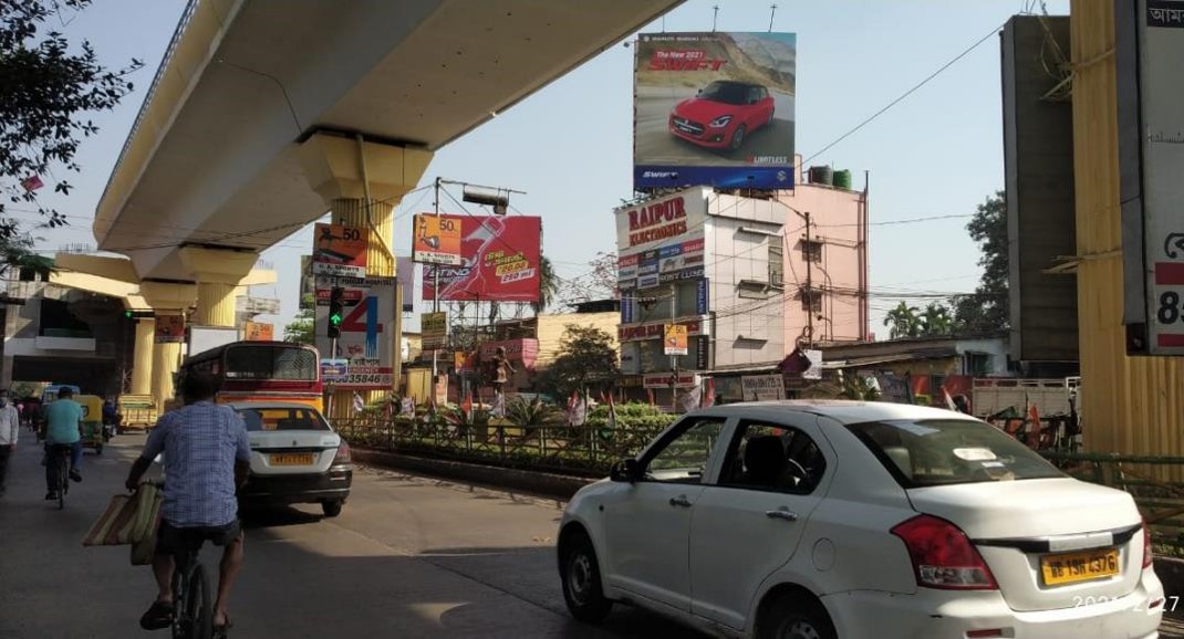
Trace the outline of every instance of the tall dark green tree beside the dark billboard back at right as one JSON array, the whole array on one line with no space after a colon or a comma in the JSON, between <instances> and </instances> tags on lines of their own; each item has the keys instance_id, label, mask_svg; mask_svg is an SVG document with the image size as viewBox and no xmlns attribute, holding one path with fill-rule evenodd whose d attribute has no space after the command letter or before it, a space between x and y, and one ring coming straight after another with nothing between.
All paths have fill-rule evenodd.
<instances>
[{"instance_id":1,"label":"tall dark green tree beside the dark billboard back at right","mask_svg":"<svg viewBox=\"0 0 1184 639\"><path fill-rule=\"evenodd\" d=\"M971 295L952 299L954 329L964 334L1006 330L1011 322L1008 297L1008 204L1005 193L998 191L983 204L966 231L978 243L982 256L978 265L983 277Z\"/></svg>"}]
</instances>

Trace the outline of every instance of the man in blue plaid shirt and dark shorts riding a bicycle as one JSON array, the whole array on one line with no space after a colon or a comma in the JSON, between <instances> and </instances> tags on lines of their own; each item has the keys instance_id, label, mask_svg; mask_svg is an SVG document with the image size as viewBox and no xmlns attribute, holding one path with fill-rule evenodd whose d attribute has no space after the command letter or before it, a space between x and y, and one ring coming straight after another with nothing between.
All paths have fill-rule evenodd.
<instances>
[{"instance_id":1,"label":"man in blue plaid shirt and dark shorts riding a bicycle","mask_svg":"<svg viewBox=\"0 0 1184 639\"><path fill-rule=\"evenodd\" d=\"M173 620L173 556L194 537L223 547L214 635L230 627L226 601L243 566L243 529L234 493L251 471L246 425L229 406L213 404L214 380L189 373L181 380L185 407L166 413L148 435L140 459L131 466L128 490L136 490L153 459L165 453L165 503L153 574L160 592L140 618L144 630L167 628Z\"/></svg>"}]
</instances>

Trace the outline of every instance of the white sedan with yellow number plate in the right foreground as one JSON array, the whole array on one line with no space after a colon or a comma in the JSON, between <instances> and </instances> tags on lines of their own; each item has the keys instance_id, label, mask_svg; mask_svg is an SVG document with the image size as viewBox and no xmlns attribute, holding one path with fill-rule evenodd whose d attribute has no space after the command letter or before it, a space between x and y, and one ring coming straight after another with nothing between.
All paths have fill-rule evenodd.
<instances>
[{"instance_id":1,"label":"white sedan with yellow number plate in the right foreground","mask_svg":"<svg viewBox=\"0 0 1184 639\"><path fill-rule=\"evenodd\" d=\"M578 619L759 639L1151 639L1164 608L1127 493L894 404L688 414L575 495L559 572Z\"/></svg>"}]
</instances>

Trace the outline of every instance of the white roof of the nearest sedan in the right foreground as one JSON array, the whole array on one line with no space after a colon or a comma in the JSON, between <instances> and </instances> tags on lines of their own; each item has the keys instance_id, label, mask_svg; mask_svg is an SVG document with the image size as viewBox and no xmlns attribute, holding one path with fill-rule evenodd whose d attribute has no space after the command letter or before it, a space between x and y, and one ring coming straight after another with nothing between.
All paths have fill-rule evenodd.
<instances>
[{"instance_id":1,"label":"white roof of the nearest sedan in the right foreground","mask_svg":"<svg viewBox=\"0 0 1184 639\"><path fill-rule=\"evenodd\" d=\"M702 408L691 414L747 419L784 419L790 414L812 414L829 417L843 425L899 419L959 419L978 421L971 415L944 408L914 406L912 404L892 404L887 401L852 400L747 401Z\"/></svg>"}]
</instances>

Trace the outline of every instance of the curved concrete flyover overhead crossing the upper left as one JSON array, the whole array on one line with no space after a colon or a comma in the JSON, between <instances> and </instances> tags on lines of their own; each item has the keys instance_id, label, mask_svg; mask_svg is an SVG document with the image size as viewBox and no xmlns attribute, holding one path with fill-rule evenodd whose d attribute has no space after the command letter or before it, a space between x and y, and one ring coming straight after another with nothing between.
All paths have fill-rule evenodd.
<instances>
[{"instance_id":1,"label":"curved concrete flyover overhead crossing the upper left","mask_svg":"<svg viewBox=\"0 0 1184 639\"><path fill-rule=\"evenodd\" d=\"M682 1L192 0L98 204L98 248L129 258L148 306L208 325L260 251L326 211L368 227L369 275L393 276L391 212L437 149Z\"/></svg>"}]
</instances>

